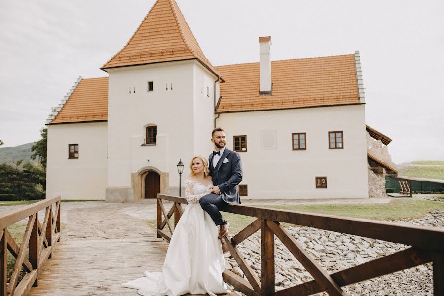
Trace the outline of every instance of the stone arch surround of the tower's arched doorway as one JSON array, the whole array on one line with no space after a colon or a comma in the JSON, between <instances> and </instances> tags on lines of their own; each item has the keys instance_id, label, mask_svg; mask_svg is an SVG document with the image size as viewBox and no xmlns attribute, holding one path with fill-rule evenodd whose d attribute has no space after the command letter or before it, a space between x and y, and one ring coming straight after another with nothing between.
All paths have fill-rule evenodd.
<instances>
[{"instance_id":1,"label":"stone arch surround of the tower's arched doorway","mask_svg":"<svg viewBox=\"0 0 444 296\"><path fill-rule=\"evenodd\" d=\"M148 177L148 175L150 175ZM157 177L155 177L157 176ZM147 180L148 178L148 180ZM151 179L152 178L152 179ZM158 179L157 179L158 178ZM165 193L167 189L168 184L168 173L163 173L159 169L151 166L143 167L141 168L137 173L131 174L131 182L132 187L134 189L134 201L140 201L140 200L149 200L149 198L145 198L146 193L146 181L147 182L158 182L158 188L159 191L157 193ZM147 188L149 189L149 188ZM154 193L156 194L156 193Z\"/></svg>"}]
</instances>

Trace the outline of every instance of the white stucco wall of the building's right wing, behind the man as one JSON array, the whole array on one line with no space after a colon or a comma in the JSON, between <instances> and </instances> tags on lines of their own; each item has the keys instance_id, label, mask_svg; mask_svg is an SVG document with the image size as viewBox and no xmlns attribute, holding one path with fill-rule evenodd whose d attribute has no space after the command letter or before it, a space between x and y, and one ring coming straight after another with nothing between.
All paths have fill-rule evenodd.
<instances>
[{"instance_id":1,"label":"white stucco wall of the building's right wing, behind the man","mask_svg":"<svg viewBox=\"0 0 444 296\"><path fill-rule=\"evenodd\" d=\"M365 105L225 113L227 147L234 135L247 135L241 152L248 196L241 199L367 198ZM343 131L344 148L328 148L328 132ZM306 150L292 150L292 133L305 132ZM263 137L276 136L264 147ZM266 143L265 143L266 144ZM315 177L327 177L327 189Z\"/></svg>"}]
</instances>

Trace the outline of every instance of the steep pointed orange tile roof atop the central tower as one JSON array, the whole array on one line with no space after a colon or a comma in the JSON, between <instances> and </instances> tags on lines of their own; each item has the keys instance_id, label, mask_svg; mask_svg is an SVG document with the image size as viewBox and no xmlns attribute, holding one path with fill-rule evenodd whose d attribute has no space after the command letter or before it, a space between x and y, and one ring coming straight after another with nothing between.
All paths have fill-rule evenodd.
<instances>
[{"instance_id":1,"label":"steep pointed orange tile roof atop the central tower","mask_svg":"<svg viewBox=\"0 0 444 296\"><path fill-rule=\"evenodd\" d=\"M188 59L197 59L220 76L200 49L176 1L157 0L125 47L101 69Z\"/></svg>"}]
</instances>

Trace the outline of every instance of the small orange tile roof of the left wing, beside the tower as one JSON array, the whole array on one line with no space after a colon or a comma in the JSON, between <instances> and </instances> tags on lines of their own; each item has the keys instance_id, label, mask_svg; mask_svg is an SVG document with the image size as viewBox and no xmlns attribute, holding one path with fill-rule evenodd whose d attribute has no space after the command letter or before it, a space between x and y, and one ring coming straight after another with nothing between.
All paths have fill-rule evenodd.
<instances>
[{"instance_id":1,"label":"small orange tile roof of the left wing, beside the tower","mask_svg":"<svg viewBox=\"0 0 444 296\"><path fill-rule=\"evenodd\" d=\"M108 119L108 77L82 79L57 116L49 123Z\"/></svg>"}]
</instances>

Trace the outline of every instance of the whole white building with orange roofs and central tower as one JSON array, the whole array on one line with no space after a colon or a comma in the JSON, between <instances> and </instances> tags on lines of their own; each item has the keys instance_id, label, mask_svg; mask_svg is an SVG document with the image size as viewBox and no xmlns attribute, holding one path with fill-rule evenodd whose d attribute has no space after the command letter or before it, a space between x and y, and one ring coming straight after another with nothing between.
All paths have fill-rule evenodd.
<instances>
[{"instance_id":1,"label":"whole white building with orange roofs and central tower","mask_svg":"<svg viewBox=\"0 0 444 296\"><path fill-rule=\"evenodd\" d=\"M47 121L47 197L138 201L178 193L179 159L213 150L215 126L241 154L248 199L366 198L359 52L214 67L174 0L158 0L102 70Z\"/></svg>"}]
</instances>

